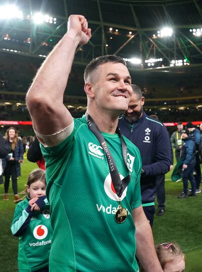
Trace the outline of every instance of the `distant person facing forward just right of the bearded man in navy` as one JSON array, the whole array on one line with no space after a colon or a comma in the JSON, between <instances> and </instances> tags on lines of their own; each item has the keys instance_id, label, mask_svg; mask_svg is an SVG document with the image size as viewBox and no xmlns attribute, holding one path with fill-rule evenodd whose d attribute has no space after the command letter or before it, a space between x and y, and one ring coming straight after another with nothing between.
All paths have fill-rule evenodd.
<instances>
[{"instance_id":1,"label":"distant person facing forward just right of the bearded man in navy","mask_svg":"<svg viewBox=\"0 0 202 272\"><path fill-rule=\"evenodd\" d=\"M171 144L172 147L175 149L176 162L180 158L180 150L182 147L182 129L183 129L182 122L178 122L177 130L174 131L173 134L171 135Z\"/></svg>"}]
</instances>

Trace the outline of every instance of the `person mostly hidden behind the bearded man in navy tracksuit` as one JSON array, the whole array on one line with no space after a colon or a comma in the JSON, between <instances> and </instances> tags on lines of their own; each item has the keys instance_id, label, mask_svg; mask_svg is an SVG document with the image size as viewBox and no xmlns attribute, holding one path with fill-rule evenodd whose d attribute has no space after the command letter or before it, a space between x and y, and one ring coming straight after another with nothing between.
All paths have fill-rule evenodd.
<instances>
[{"instance_id":1,"label":"person mostly hidden behind the bearded man in navy tracksuit","mask_svg":"<svg viewBox=\"0 0 202 272\"><path fill-rule=\"evenodd\" d=\"M150 115L150 117L159 121L157 115ZM168 133L169 135L169 133ZM169 135L170 139L170 135ZM170 171L173 169L173 148L170 142L170 149L171 149L171 166ZM157 202L158 202L158 215L163 215L165 213L165 202L166 202L166 191L165 191L165 174L160 174L156 178L157 184Z\"/></svg>"}]
</instances>

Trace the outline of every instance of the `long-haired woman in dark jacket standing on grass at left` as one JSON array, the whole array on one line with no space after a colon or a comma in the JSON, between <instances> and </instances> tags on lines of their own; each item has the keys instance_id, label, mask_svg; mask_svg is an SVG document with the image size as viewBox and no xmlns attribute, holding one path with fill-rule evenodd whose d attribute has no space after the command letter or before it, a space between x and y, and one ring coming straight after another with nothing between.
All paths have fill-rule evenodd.
<instances>
[{"instance_id":1,"label":"long-haired woman in dark jacket standing on grass at left","mask_svg":"<svg viewBox=\"0 0 202 272\"><path fill-rule=\"evenodd\" d=\"M5 176L5 195L4 200L9 200L9 183L12 178L12 186L14 192L14 202L17 203L22 200L18 195L17 177L20 176L20 164L23 162L24 149L22 141L18 138L18 132L15 128L9 128L6 132L6 146L9 154L3 159L3 168Z\"/></svg>"}]
</instances>

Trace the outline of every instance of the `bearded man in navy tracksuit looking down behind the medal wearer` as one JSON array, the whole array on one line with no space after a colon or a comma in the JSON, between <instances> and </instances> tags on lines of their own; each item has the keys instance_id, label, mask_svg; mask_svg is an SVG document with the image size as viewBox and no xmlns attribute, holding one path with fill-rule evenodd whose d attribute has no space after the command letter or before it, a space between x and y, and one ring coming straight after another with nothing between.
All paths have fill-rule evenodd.
<instances>
[{"instance_id":1,"label":"bearded man in navy tracksuit looking down behind the medal wearer","mask_svg":"<svg viewBox=\"0 0 202 272\"><path fill-rule=\"evenodd\" d=\"M170 139L166 127L143 112L144 97L138 86L132 85L133 95L128 111L119 120L121 133L140 150L142 206L151 227L155 213L156 176L166 174L171 165Z\"/></svg>"}]
</instances>

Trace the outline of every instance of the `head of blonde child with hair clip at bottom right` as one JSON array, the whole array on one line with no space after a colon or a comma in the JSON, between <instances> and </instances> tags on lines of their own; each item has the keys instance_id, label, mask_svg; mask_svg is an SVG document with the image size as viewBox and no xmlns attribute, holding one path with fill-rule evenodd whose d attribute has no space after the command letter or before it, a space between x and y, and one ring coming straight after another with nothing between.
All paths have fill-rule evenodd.
<instances>
[{"instance_id":1,"label":"head of blonde child with hair clip at bottom right","mask_svg":"<svg viewBox=\"0 0 202 272\"><path fill-rule=\"evenodd\" d=\"M164 272L184 271L185 256L178 245L163 243L156 247L156 251Z\"/></svg>"}]
</instances>

